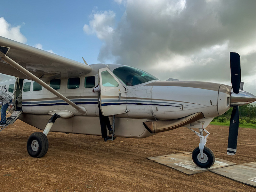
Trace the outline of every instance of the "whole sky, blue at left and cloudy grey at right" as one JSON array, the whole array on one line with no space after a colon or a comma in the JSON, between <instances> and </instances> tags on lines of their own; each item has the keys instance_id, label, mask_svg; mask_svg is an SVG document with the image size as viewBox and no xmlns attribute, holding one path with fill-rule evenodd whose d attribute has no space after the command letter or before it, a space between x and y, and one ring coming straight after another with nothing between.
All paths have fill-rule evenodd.
<instances>
[{"instance_id":1,"label":"whole sky, blue at left and cloudy grey at right","mask_svg":"<svg viewBox=\"0 0 256 192\"><path fill-rule=\"evenodd\" d=\"M88 64L115 63L174 78L231 85L241 57L256 95L256 1L3 1L0 36Z\"/></svg>"}]
</instances>

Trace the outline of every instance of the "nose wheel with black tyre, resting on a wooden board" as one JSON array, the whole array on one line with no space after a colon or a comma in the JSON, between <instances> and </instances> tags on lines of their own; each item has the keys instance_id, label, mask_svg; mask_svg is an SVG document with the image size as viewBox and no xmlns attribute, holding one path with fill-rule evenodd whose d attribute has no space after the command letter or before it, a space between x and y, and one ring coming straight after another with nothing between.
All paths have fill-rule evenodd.
<instances>
[{"instance_id":1,"label":"nose wheel with black tyre, resting on a wooden board","mask_svg":"<svg viewBox=\"0 0 256 192\"><path fill-rule=\"evenodd\" d=\"M215 156L212 150L208 147L204 147L203 159L201 159L199 147L195 148L192 152L192 159L198 167L202 167L205 169L211 167L215 162Z\"/></svg>"}]
</instances>

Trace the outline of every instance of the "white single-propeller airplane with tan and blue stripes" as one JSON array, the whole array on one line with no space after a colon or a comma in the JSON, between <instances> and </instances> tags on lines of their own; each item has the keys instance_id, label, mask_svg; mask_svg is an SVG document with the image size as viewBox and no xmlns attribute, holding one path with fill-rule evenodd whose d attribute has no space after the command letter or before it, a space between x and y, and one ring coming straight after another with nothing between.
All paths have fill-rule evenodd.
<instances>
[{"instance_id":1,"label":"white single-propeller airplane with tan and blue stripes","mask_svg":"<svg viewBox=\"0 0 256 192\"><path fill-rule=\"evenodd\" d=\"M0 66L0 73L15 77L0 83L0 89L13 96L10 118L43 130L28 138L27 150L32 157L47 153L50 131L101 135L99 102L103 115L113 122L111 140L145 138L186 127L199 137L199 146L192 152L194 163L209 168L215 156L205 146L210 134L207 126L233 107L227 154L235 155L238 106L256 101L253 94L240 89L240 56L235 52L230 52L232 87L175 79L160 81L131 66L88 65L85 60L80 63L1 36ZM97 84L100 94L92 92Z\"/></svg>"}]
</instances>

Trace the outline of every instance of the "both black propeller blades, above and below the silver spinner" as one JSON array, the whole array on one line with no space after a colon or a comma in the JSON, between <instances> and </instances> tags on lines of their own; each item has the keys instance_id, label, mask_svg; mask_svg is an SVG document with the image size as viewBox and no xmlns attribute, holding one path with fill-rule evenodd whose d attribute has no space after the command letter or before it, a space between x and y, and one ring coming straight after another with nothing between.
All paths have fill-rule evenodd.
<instances>
[{"instance_id":1,"label":"both black propeller blades, above and below the silver spinner","mask_svg":"<svg viewBox=\"0 0 256 192\"><path fill-rule=\"evenodd\" d=\"M241 67L240 67L240 56L238 53L230 52L230 72L231 72L231 84L233 92L238 94L241 84ZM239 128L239 108L233 106L231 113L229 133L228 133L228 155L236 154L237 137Z\"/></svg>"}]
</instances>

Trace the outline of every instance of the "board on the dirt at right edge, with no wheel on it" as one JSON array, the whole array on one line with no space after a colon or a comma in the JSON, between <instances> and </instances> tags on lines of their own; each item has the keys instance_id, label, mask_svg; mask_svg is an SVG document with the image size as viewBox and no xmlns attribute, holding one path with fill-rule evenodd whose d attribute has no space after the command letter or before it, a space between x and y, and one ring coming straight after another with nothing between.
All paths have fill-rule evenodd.
<instances>
[{"instance_id":1,"label":"board on the dirt at right edge, with no wheel on it","mask_svg":"<svg viewBox=\"0 0 256 192\"><path fill-rule=\"evenodd\" d=\"M211 172L256 188L256 162L214 169Z\"/></svg>"}]
</instances>

